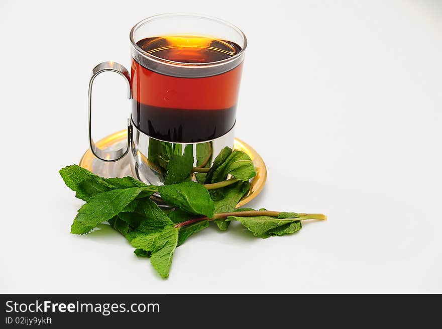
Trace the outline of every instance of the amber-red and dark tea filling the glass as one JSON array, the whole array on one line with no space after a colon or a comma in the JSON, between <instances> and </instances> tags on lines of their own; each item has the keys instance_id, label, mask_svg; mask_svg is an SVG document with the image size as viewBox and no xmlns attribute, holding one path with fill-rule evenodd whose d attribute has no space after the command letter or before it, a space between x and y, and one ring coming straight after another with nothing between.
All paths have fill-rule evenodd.
<instances>
[{"instance_id":1,"label":"amber-red and dark tea filling the glass","mask_svg":"<svg viewBox=\"0 0 442 329\"><path fill-rule=\"evenodd\" d=\"M189 143L220 137L233 127L242 62L195 66L228 60L240 46L189 35L146 38L137 45L160 58L143 62L135 56L132 62L132 119L139 130Z\"/></svg>"}]
</instances>

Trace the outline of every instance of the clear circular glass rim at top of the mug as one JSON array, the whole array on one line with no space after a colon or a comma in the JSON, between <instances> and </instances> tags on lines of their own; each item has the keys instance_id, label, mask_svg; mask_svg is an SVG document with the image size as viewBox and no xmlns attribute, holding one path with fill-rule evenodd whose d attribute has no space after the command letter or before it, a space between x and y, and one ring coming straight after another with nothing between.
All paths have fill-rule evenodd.
<instances>
[{"instance_id":1,"label":"clear circular glass rim at top of the mug","mask_svg":"<svg viewBox=\"0 0 442 329\"><path fill-rule=\"evenodd\" d=\"M173 16L177 16L177 17L182 17L182 16L188 16L188 17L194 17L194 18L200 18L200 19L206 19L209 21L216 21L218 23L222 23L228 27L231 27L232 29L234 29L236 32L238 32L238 34L241 35L241 37L244 39L244 46L241 47L241 50L233 55L230 58L226 58L223 60L219 60L219 61L215 61L215 62L207 62L207 63L184 63L184 62L176 62L176 61L171 61L171 60L167 60L161 57L157 57L155 55L152 55L146 51L144 51L141 47L139 47L136 43L136 41L134 40L134 33L136 30L138 30L140 27L142 27L145 24L148 24L149 22L153 22L156 21L158 19L162 19L165 17L173 17ZM220 65L224 65L230 62L235 61L237 58L239 58L240 56L242 56L247 48L247 38L246 35L244 34L243 31L241 31L236 25L233 25L232 23L229 23L225 20L213 17L213 16L207 16L207 15L202 15L202 14L195 14L195 13L169 13L169 14L160 14L160 15L154 15L154 16L150 16L148 18L145 18L144 20L138 22L137 24L135 24L135 26L131 29L131 33L129 34L129 38L131 40L131 45L132 47L138 52L140 53L140 55L147 57L148 59L157 62L157 63L161 63L161 64L166 64L166 65L170 65L170 66L175 66L175 67L214 67L214 66L220 66Z\"/></svg>"}]
</instances>

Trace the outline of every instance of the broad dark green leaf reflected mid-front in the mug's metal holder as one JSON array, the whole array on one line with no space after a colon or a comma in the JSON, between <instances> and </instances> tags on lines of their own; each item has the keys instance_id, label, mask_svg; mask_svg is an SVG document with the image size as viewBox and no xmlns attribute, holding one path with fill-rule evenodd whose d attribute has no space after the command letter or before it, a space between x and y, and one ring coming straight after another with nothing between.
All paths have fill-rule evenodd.
<instances>
[{"instance_id":1,"label":"broad dark green leaf reflected mid-front in the mug's metal holder","mask_svg":"<svg viewBox=\"0 0 442 329\"><path fill-rule=\"evenodd\" d=\"M164 184L181 183L190 177L193 169L193 145L186 145L183 155L172 154L167 164Z\"/></svg>"}]
</instances>

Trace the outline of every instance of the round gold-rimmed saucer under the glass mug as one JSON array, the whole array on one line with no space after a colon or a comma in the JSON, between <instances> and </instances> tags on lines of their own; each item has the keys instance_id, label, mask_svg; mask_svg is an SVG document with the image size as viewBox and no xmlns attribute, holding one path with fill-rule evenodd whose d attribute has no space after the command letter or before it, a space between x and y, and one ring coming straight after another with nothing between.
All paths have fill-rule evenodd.
<instances>
[{"instance_id":1,"label":"round gold-rimmed saucer under the glass mug","mask_svg":"<svg viewBox=\"0 0 442 329\"><path fill-rule=\"evenodd\" d=\"M127 136L127 130L122 130L99 140L95 144L98 148L109 151L112 149L119 149L120 147L126 145ZM238 208L245 205L261 192L264 184L266 183L267 168L261 156L249 144L243 142L242 140L239 140L238 138L235 138L234 149L241 150L247 153L247 155L252 159L253 164L256 168L256 176L250 182L250 191L245 197L240 200L240 202L238 202ZM133 176L131 172L129 157L130 155L128 154L119 161L105 162L97 159L89 149L84 152L79 165L99 176Z\"/></svg>"}]
</instances>

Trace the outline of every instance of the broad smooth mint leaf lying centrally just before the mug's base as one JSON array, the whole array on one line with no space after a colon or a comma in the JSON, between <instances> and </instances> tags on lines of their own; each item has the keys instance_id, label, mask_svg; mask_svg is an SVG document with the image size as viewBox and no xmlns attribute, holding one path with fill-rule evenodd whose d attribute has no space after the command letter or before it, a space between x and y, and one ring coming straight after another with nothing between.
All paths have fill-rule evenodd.
<instances>
[{"instance_id":1,"label":"broad smooth mint leaf lying centrally just before the mug's base","mask_svg":"<svg viewBox=\"0 0 442 329\"><path fill-rule=\"evenodd\" d=\"M214 203L204 185L184 182L174 185L158 186L161 198L170 205L176 205L192 214L213 216Z\"/></svg>"}]
</instances>

